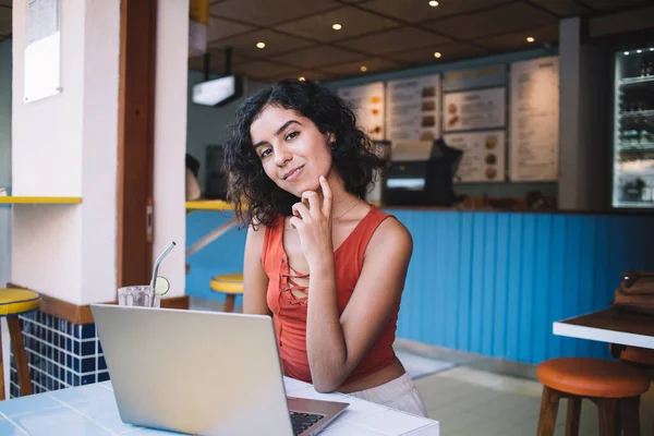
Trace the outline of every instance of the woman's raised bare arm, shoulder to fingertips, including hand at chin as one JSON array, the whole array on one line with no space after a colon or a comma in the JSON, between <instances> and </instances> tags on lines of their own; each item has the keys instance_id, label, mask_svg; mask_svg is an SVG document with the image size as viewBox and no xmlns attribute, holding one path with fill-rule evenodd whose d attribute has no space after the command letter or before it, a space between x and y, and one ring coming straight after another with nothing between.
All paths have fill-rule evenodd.
<instances>
[{"instance_id":1,"label":"woman's raised bare arm, shoulder to fingertips, including hand at chin","mask_svg":"<svg viewBox=\"0 0 654 436\"><path fill-rule=\"evenodd\" d=\"M393 218L384 220L366 247L354 292L339 316L331 245L331 191L320 178L324 204L315 192L293 205L290 222L300 233L308 263L306 351L314 387L338 389L375 342L396 308L404 288L413 241Z\"/></svg>"}]
</instances>

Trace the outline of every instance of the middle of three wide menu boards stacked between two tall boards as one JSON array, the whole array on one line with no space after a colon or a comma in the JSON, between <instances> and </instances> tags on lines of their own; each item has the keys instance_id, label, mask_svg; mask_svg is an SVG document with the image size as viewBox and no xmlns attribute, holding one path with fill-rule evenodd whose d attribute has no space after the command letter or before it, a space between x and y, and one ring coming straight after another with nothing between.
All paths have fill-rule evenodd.
<instances>
[{"instance_id":1,"label":"middle of three wide menu boards stacked between two tall boards","mask_svg":"<svg viewBox=\"0 0 654 436\"><path fill-rule=\"evenodd\" d=\"M446 132L504 128L506 88L446 94L444 124Z\"/></svg>"}]
</instances>

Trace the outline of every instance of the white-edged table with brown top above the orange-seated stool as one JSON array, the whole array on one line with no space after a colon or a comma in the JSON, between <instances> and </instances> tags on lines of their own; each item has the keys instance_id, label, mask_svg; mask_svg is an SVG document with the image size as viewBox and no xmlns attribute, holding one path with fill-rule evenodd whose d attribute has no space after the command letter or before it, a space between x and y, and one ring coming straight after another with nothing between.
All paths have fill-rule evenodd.
<instances>
[{"instance_id":1,"label":"white-edged table with brown top above the orange-seated stool","mask_svg":"<svg viewBox=\"0 0 654 436\"><path fill-rule=\"evenodd\" d=\"M570 338L654 349L654 315L615 307L555 322L553 331Z\"/></svg>"}]
</instances>

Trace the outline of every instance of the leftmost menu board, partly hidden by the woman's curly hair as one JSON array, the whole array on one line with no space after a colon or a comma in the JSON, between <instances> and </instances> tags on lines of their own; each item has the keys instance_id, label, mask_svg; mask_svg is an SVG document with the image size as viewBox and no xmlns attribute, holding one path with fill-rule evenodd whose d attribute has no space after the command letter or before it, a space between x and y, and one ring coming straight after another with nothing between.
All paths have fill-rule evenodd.
<instances>
[{"instance_id":1,"label":"leftmost menu board, partly hidden by the woman's curly hair","mask_svg":"<svg viewBox=\"0 0 654 436\"><path fill-rule=\"evenodd\" d=\"M342 87L337 94L351 105L358 125L371 140L384 140L384 82Z\"/></svg>"}]
</instances>

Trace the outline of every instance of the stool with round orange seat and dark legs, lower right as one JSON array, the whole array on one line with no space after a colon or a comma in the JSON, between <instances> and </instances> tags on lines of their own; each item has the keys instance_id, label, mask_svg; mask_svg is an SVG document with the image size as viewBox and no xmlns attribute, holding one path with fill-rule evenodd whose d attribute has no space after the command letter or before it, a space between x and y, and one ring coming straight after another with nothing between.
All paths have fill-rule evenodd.
<instances>
[{"instance_id":1,"label":"stool with round orange seat and dark legs, lower right","mask_svg":"<svg viewBox=\"0 0 654 436\"><path fill-rule=\"evenodd\" d=\"M640 435L640 396L650 388L644 372L621 362L561 358L541 363L536 375L544 385L538 436L554 435L561 398L568 399L566 435L579 434L584 398L598 408L601 436L619 434L619 428L625 436Z\"/></svg>"}]
</instances>

